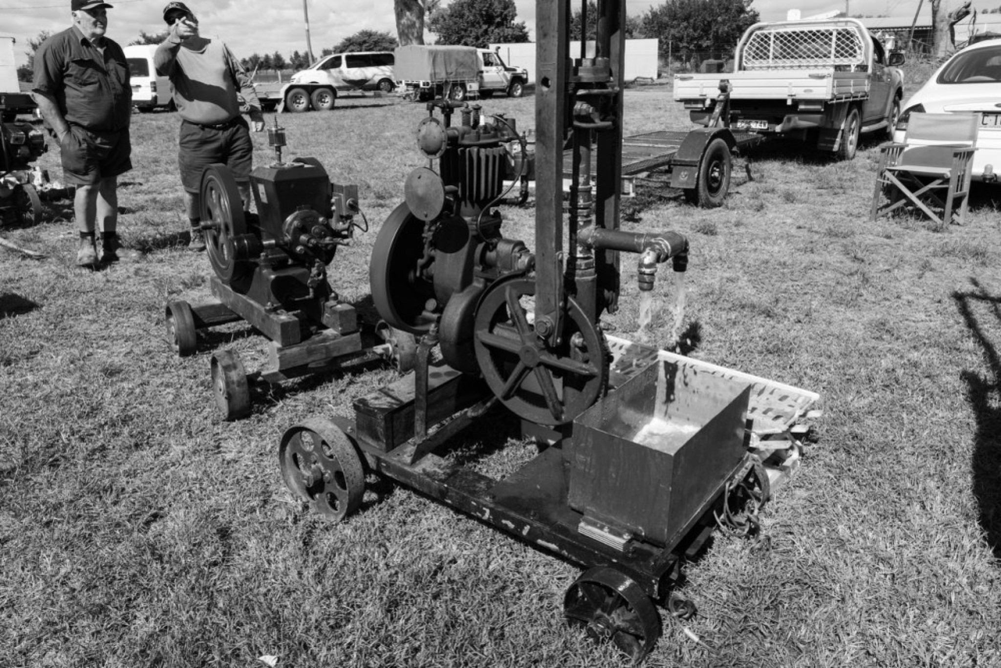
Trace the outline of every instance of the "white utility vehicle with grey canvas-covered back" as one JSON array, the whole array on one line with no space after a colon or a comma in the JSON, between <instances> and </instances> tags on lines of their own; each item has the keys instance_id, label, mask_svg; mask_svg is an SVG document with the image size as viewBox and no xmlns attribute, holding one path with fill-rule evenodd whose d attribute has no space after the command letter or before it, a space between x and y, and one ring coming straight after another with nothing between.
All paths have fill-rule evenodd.
<instances>
[{"instance_id":1,"label":"white utility vehicle with grey canvas-covered back","mask_svg":"<svg viewBox=\"0 0 1001 668\"><path fill-rule=\"evenodd\" d=\"M410 45L395 50L396 84L419 99L461 101L469 93L521 97L529 82L522 67L509 67L495 51L471 46Z\"/></svg>"}]
</instances>

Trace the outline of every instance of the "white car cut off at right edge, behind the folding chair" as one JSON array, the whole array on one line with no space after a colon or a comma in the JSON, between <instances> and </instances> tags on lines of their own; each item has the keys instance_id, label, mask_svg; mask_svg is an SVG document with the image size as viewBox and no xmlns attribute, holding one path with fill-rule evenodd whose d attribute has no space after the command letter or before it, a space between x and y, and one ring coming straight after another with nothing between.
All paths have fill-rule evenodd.
<instances>
[{"instance_id":1,"label":"white car cut off at right edge, behind the folding chair","mask_svg":"<svg viewBox=\"0 0 1001 668\"><path fill-rule=\"evenodd\" d=\"M900 114L894 141L902 142L914 112L980 113L973 180L997 182L1001 170L1001 39L958 51L914 93Z\"/></svg>"}]
</instances>

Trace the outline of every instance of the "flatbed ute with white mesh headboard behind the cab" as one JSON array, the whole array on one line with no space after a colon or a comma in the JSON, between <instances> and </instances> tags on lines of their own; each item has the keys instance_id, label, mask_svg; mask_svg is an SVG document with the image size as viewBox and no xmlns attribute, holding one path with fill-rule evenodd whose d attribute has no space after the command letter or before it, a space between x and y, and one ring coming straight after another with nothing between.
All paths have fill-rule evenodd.
<instances>
[{"instance_id":1,"label":"flatbed ute with white mesh headboard behind the cab","mask_svg":"<svg viewBox=\"0 0 1001 668\"><path fill-rule=\"evenodd\" d=\"M736 71L678 74L675 99L706 124L729 80L734 129L805 141L848 160L860 132L893 135L904 95L895 65L903 62L900 53L887 57L855 19L758 23L737 44Z\"/></svg>"}]
</instances>

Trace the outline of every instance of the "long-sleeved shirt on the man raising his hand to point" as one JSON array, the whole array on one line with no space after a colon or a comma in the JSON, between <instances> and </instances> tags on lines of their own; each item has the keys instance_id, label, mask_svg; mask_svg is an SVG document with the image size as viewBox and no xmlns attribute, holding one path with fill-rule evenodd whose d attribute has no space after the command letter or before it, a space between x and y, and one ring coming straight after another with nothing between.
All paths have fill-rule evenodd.
<instances>
[{"instance_id":1,"label":"long-sleeved shirt on the man raising his hand to point","mask_svg":"<svg viewBox=\"0 0 1001 668\"><path fill-rule=\"evenodd\" d=\"M177 112L186 121L216 125L235 118L240 113L237 92L251 111L260 109L246 70L218 40L168 37L153 54L153 64L170 79Z\"/></svg>"}]
</instances>

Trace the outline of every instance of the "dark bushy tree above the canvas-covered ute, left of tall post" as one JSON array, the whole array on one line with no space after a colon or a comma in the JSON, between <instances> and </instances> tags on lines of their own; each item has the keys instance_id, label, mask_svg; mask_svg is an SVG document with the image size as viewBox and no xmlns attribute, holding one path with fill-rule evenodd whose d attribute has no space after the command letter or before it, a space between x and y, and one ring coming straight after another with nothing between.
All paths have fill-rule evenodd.
<instances>
[{"instance_id":1,"label":"dark bushy tree above the canvas-covered ute, left of tall post","mask_svg":"<svg viewBox=\"0 0 1001 668\"><path fill-rule=\"evenodd\" d=\"M485 47L490 42L528 42L525 21L516 23L515 0L453 0L431 14L427 28L439 44Z\"/></svg>"}]
</instances>

